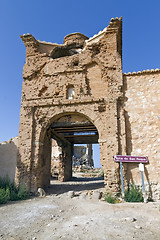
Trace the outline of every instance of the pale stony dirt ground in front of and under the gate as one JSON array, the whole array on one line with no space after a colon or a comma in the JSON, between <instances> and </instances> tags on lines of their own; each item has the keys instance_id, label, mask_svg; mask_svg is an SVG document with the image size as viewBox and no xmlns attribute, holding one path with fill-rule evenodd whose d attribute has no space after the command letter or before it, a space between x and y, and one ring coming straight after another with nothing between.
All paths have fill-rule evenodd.
<instances>
[{"instance_id":1,"label":"pale stony dirt ground in front of and under the gate","mask_svg":"<svg viewBox=\"0 0 160 240\"><path fill-rule=\"evenodd\" d=\"M160 202L109 204L98 199L103 187L101 178L54 180L45 197L1 205L0 239L160 239Z\"/></svg>"}]
</instances>

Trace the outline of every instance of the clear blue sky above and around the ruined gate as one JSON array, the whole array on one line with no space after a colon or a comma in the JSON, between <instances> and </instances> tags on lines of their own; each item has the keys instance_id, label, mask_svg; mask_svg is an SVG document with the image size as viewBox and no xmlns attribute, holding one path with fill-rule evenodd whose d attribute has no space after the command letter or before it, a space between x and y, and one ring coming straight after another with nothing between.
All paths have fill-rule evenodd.
<instances>
[{"instance_id":1,"label":"clear blue sky above and around the ruined gate","mask_svg":"<svg viewBox=\"0 0 160 240\"><path fill-rule=\"evenodd\" d=\"M25 47L19 35L62 43L81 32L93 36L123 16L123 72L160 68L160 1L1 0L0 142L18 135Z\"/></svg>"}]
</instances>

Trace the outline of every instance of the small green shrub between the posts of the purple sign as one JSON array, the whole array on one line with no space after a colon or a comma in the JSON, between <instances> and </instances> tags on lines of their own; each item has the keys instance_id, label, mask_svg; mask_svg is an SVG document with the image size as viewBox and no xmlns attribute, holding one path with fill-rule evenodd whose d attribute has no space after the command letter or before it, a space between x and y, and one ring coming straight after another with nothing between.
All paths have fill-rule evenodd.
<instances>
[{"instance_id":1,"label":"small green shrub between the posts of the purple sign","mask_svg":"<svg viewBox=\"0 0 160 240\"><path fill-rule=\"evenodd\" d=\"M126 202L143 202L143 194L139 186L134 183L128 186L128 189L124 192Z\"/></svg>"}]
</instances>

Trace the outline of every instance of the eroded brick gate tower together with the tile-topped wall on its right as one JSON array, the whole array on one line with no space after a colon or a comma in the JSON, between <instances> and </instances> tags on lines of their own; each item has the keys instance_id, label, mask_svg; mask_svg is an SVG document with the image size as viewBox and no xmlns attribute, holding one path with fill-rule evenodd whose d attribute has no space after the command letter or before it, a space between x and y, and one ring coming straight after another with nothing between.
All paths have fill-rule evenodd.
<instances>
[{"instance_id":1,"label":"eroded brick gate tower together with the tile-topped wall on its right","mask_svg":"<svg viewBox=\"0 0 160 240\"><path fill-rule=\"evenodd\" d=\"M122 19L91 38L67 35L63 44L21 38L26 63L16 180L32 192L49 185L53 138L62 150L61 181L72 176L73 145L99 143L107 190L120 190L113 156L138 154L148 156L145 183L158 194L160 71L122 73ZM126 182L140 181L137 164L124 172Z\"/></svg>"}]
</instances>

